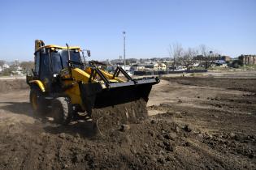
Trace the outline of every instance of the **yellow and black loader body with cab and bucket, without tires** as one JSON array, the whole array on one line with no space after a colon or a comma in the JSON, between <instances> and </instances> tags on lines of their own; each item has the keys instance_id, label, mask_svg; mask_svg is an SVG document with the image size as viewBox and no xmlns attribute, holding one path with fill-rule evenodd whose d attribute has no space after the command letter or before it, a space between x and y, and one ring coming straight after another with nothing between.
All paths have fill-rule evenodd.
<instances>
[{"instance_id":1,"label":"yellow and black loader body with cab and bucket, without tires","mask_svg":"<svg viewBox=\"0 0 256 170\"><path fill-rule=\"evenodd\" d=\"M64 96L79 112L90 113L93 108L140 99L147 101L152 85L159 82L154 77L132 79L119 66L113 74L98 66L99 62L89 62L85 66L80 52L83 51L77 46L45 45L42 40L36 40L36 66L33 75L27 75L27 83L32 89L38 87L44 99ZM61 69L56 72L54 66ZM122 74L121 78L119 74Z\"/></svg>"}]
</instances>

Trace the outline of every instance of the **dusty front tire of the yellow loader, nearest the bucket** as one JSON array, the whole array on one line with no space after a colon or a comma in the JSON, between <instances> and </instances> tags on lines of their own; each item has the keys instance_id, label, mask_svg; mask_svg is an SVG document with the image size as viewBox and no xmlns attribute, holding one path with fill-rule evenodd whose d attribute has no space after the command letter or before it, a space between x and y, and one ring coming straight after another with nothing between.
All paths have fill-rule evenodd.
<instances>
[{"instance_id":1,"label":"dusty front tire of the yellow loader, nearest the bucket","mask_svg":"<svg viewBox=\"0 0 256 170\"><path fill-rule=\"evenodd\" d=\"M67 125L72 121L74 111L72 103L68 97L57 97L52 102L52 112L54 114L54 121Z\"/></svg>"}]
</instances>

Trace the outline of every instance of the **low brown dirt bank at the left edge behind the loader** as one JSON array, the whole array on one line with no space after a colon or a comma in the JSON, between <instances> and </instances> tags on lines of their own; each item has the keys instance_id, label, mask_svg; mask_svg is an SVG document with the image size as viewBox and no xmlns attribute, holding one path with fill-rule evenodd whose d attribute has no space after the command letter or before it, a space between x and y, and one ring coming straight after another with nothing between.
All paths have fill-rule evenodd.
<instances>
[{"instance_id":1,"label":"low brown dirt bank at the left edge behind the loader","mask_svg":"<svg viewBox=\"0 0 256 170\"><path fill-rule=\"evenodd\" d=\"M0 80L0 92L28 89L25 79Z\"/></svg>"}]
</instances>

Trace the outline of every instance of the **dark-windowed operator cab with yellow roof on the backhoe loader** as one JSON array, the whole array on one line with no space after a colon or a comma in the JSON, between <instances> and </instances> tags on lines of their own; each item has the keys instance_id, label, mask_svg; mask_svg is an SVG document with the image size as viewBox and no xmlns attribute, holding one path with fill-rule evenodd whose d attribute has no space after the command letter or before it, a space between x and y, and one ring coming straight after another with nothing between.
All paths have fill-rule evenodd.
<instances>
[{"instance_id":1,"label":"dark-windowed operator cab with yellow roof on the backhoe loader","mask_svg":"<svg viewBox=\"0 0 256 170\"><path fill-rule=\"evenodd\" d=\"M35 69L33 76L43 83L47 91L56 91L54 83L61 70L68 70L70 67L85 69L80 52L79 47L60 47L39 43L34 53Z\"/></svg>"}]
</instances>

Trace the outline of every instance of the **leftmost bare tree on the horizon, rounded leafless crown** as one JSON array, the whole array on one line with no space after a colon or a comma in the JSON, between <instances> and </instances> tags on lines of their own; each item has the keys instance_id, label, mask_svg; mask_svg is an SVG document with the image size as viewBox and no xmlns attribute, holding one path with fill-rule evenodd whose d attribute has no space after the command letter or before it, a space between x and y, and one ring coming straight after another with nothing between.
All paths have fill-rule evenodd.
<instances>
[{"instance_id":1,"label":"leftmost bare tree on the horizon, rounded leafless crown","mask_svg":"<svg viewBox=\"0 0 256 170\"><path fill-rule=\"evenodd\" d=\"M180 57L182 57L182 53L183 53L182 45L180 45L177 42L173 43L172 45L169 45L168 52L171 59L173 59L171 67L172 67L172 70L174 70L176 66L176 62L179 60Z\"/></svg>"}]
</instances>

